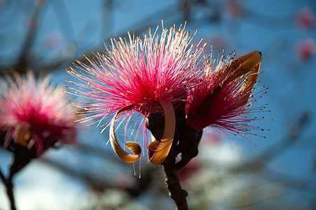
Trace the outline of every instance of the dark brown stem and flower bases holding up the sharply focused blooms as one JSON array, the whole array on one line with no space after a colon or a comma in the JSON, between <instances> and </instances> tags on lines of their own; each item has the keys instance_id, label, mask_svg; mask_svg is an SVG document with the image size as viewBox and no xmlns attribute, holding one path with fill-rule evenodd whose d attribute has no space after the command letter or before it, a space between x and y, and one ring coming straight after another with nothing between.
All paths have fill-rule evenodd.
<instances>
[{"instance_id":1,"label":"dark brown stem and flower bases holding up the sharply focused blooms","mask_svg":"<svg viewBox=\"0 0 316 210\"><path fill-rule=\"evenodd\" d=\"M175 111L176 130L169 155L162 163L162 169L166 176L166 188L169 190L169 196L176 203L176 209L187 210L187 191L180 186L178 172L185 167L192 158L197 156L199 140L202 137L202 131L195 130L190 125L185 125L185 113ZM155 139L162 139L164 132L164 116L161 113L150 113L145 123ZM181 153L181 160L176 164L176 157Z\"/></svg>"}]
</instances>

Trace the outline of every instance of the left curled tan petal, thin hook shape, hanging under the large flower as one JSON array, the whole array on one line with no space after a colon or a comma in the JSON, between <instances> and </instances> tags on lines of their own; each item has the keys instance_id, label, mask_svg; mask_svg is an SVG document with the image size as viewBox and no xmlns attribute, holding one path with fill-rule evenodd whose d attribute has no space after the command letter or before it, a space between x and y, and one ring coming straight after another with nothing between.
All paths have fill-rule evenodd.
<instances>
[{"instance_id":1,"label":"left curled tan petal, thin hook shape, hanging under the large flower","mask_svg":"<svg viewBox=\"0 0 316 210\"><path fill-rule=\"evenodd\" d=\"M110 125L111 146L114 152L117 153L117 156L119 156L119 158L121 158L121 160L124 160L125 162L136 162L136 160L138 160L138 158L140 157L142 153L142 149L135 141L127 141L125 144L126 148L129 148L129 150L132 151L134 154L126 153L126 151L124 151L123 148L121 148L121 146L119 145L119 142L117 141L117 137L115 137L114 124L115 124L115 120L117 116L119 116L120 113L124 111L129 111L132 108L133 106L131 105L131 106L125 106L119 109L119 111L117 111L117 113L115 113L115 115L113 116L111 125Z\"/></svg>"}]
</instances>

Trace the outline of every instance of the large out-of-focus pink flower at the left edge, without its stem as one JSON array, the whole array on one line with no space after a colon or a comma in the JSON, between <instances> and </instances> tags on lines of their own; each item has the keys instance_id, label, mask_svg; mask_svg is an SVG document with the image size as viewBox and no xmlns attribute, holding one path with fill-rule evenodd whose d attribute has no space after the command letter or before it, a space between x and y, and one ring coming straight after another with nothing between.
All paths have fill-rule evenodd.
<instances>
[{"instance_id":1,"label":"large out-of-focus pink flower at the left edge, without its stem","mask_svg":"<svg viewBox=\"0 0 316 210\"><path fill-rule=\"evenodd\" d=\"M35 81L15 73L1 80L0 128L6 130L4 146L11 142L27 147L38 155L57 142L74 143L76 125L62 87L48 85L49 78Z\"/></svg>"}]
</instances>

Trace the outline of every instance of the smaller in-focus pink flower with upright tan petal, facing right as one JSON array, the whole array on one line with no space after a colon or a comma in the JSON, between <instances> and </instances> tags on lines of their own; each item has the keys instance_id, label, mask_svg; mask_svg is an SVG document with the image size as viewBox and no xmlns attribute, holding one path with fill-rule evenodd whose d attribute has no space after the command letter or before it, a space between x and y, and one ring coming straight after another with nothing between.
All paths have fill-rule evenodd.
<instances>
[{"instance_id":1,"label":"smaller in-focus pink flower with upright tan petal, facing right","mask_svg":"<svg viewBox=\"0 0 316 210\"><path fill-rule=\"evenodd\" d=\"M256 118L246 118L244 114L263 109L250 108L261 97L251 99L261 64L261 52L254 51L238 59L222 55L217 62L211 55L209 57L205 59L204 70L197 76L190 92L187 125L197 131L211 126L226 133L242 135L259 130L247 125Z\"/></svg>"}]
</instances>

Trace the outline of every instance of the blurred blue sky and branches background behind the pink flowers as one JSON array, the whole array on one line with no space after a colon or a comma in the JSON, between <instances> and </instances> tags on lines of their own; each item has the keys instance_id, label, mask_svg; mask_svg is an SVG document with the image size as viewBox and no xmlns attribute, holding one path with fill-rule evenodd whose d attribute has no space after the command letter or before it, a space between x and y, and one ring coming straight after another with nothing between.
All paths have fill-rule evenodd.
<instances>
[{"instance_id":1,"label":"blurred blue sky and branches background behind the pink flowers","mask_svg":"<svg viewBox=\"0 0 316 210\"><path fill-rule=\"evenodd\" d=\"M93 57L88 50L103 52L103 41L128 29L143 36L162 18L164 27L187 21L214 55L260 50L256 87L269 90L256 102L268 103L257 124L270 131L229 141L204 130L199 155L180 172L189 207L316 209L315 15L314 0L0 0L0 74L32 69L65 86L73 80L65 68L84 61L82 52ZM82 127L77 145L51 149L17 174L18 209L175 209L161 167L122 162L100 130ZM0 148L4 172L11 158ZM9 209L2 183L0 209Z\"/></svg>"}]
</instances>

